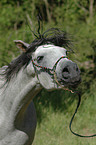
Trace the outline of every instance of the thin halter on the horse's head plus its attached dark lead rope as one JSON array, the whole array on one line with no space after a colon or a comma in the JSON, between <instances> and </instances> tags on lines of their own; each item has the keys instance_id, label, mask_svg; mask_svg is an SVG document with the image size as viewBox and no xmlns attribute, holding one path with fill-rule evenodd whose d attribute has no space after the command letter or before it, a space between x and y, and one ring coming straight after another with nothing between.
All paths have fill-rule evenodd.
<instances>
[{"instance_id":1,"label":"thin halter on the horse's head plus its attached dark lead rope","mask_svg":"<svg viewBox=\"0 0 96 145\"><path fill-rule=\"evenodd\" d=\"M33 67L34 67L34 69L35 69L35 73L36 73L36 75L37 75L37 78L38 78L38 70L36 69L36 67L42 68L42 70L44 70L45 72L47 72L48 74L50 74L50 75L53 77L53 79L55 80L55 82L57 83L57 85L60 86L63 90L70 91L71 93L76 93L76 94L78 95L78 103L77 103L77 107L76 107L76 109L75 109L75 112L74 112L74 114L73 114L73 116L72 116L72 118L71 118L71 121L70 121L70 124L69 124L69 129L70 129L70 131L71 131L74 135L76 135L76 136L78 136L78 137L83 137L83 138L96 137L96 134L92 134L92 135L85 136L85 135L81 135L81 134L78 134L78 133L72 131L72 123L73 123L74 117L75 117L75 115L76 115L76 113L77 113L77 111L78 111L78 108L79 108L79 106L80 106L80 103L81 103L81 94L80 94L78 91L74 91L74 92L73 92L72 90L69 90L68 88L63 87L63 86L58 82L58 80L57 80L57 75L56 75L56 66L57 66L58 62L59 62L61 59L63 59L63 58L67 58L67 57L65 57L65 56L60 57L60 58L56 61L55 65L53 66L52 69L47 68L47 67L43 67L43 66L40 66L40 65L37 65L37 64L35 64L34 60L32 60L32 64L33 64ZM39 78L38 78L38 80L39 80Z\"/></svg>"}]
</instances>

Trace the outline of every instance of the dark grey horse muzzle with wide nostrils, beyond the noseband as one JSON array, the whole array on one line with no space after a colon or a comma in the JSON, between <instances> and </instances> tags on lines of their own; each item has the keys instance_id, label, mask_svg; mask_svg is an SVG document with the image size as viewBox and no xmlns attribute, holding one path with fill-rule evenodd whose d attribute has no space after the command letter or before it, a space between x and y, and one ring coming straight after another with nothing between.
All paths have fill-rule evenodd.
<instances>
[{"instance_id":1,"label":"dark grey horse muzzle with wide nostrils, beyond the noseband","mask_svg":"<svg viewBox=\"0 0 96 145\"><path fill-rule=\"evenodd\" d=\"M75 88L81 82L80 69L71 60L61 60L56 68L58 82Z\"/></svg>"}]
</instances>

